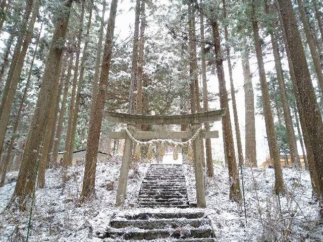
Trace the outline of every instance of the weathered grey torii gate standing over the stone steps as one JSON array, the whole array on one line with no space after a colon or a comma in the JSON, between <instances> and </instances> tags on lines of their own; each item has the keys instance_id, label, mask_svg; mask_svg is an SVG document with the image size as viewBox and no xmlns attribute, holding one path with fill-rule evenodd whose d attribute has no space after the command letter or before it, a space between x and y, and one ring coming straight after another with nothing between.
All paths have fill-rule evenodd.
<instances>
[{"instance_id":1,"label":"weathered grey torii gate standing over the stone steps","mask_svg":"<svg viewBox=\"0 0 323 242\"><path fill-rule=\"evenodd\" d=\"M129 164L132 158L132 139L189 139L195 135L195 139L192 141L192 147L194 152L193 165L195 174L196 203L198 208L205 208L204 172L201 159L200 142L201 139L219 138L219 132L206 131L205 129L201 130L200 124L205 122L220 121L221 117L226 114L226 111L226 109L219 109L208 112L180 115L144 115L105 111L106 120L115 123L126 123L128 130L128 133L126 130L122 130L119 132L111 132L109 134L110 139L125 139L124 155L121 163L119 185L116 197L116 206L121 206L126 197ZM188 131L142 132L136 130L136 127L140 124L162 126L190 124L191 129ZM197 131L199 132L196 134Z\"/></svg>"}]
</instances>

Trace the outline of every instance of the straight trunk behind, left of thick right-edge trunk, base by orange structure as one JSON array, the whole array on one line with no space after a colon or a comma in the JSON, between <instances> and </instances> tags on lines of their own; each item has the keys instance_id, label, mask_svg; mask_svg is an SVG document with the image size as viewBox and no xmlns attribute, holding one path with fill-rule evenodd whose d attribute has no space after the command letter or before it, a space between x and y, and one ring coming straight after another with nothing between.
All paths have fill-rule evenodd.
<instances>
[{"instance_id":1,"label":"straight trunk behind, left of thick right-edge trunk, base by orange structure","mask_svg":"<svg viewBox=\"0 0 323 242\"><path fill-rule=\"evenodd\" d=\"M267 0L264 0L264 9L266 14L270 13ZM281 56L279 53L279 45L278 45L277 37L274 34L273 30L270 29L269 32L270 32L271 42L273 46L275 69L276 69L277 81L279 85L280 97L281 97L281 102L283 107L284 120L285 120L285 126L287 130L288 146L290 150L291 160L294 165L301 167L301 162L300 162L298 150L297 150L295 131L294 131L294 126L292 122L292 115L291 115L291 111L289 109L288 100L287 100L284 73L282 68Z\"/></svg>"}]
</instances>

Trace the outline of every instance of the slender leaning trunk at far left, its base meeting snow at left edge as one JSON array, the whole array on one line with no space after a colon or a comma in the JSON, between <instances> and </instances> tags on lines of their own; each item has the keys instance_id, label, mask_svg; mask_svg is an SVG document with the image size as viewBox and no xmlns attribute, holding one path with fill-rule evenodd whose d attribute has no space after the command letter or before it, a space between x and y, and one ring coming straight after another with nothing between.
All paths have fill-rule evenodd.
<instances>
[{"instance_id":1,"label":"slender leaning trunk at far left, its base meeting snow at left edge","mask_svg":"<svg viewBox=\"0 0 323 242\"><path fill-rule=\"evenodd\" d=\"M25 103L25 98L27 96L28 88L29 88L29 86L31 84L30 83L31 75L32 75L34 61L35 61L35 57L36 57L36 53L37 53L39 40L40 40L42 24L43 23L41 23L40 30L39 30L39 33L38 33L38 37L37 37L37 40L36 40L36 47L34 49L33 56L32 56L32 59L31 59L30 68L29 68L28 77L27 77L27 82L26 82L26 86L25 86L23 95L21 97L21 101L20 101L20 105L19 105L19 109L18 109L18 113L17 113L17 117L16 117L16 122L15 122L14 129L13 129L13 134L12 134L12 137L10 139L10 143L9 143L9 146L8 146L6 158L4 160L4 166L2 167L2 171L1 171L2 172L2 177L1 177L1 181L0 181L0 187L3 186L4 183L5 183L6 173L7 173L8 167L9 167L8 165L9 165L10 160L11 160L11 154L12 154L12 150L14 148L16 134L17 134L17 130L18 130L18 127L19 127L19 123L20 123L21 113L22 113L23 108L24 108L24 103Z\"/></svg>"}]
</instances>

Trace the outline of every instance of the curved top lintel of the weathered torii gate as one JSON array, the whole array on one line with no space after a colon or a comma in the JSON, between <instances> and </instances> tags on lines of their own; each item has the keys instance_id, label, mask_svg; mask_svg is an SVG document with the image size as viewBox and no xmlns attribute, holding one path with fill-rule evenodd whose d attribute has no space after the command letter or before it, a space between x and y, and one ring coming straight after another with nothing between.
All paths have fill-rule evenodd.
<instances>
[{"instance_id":1,"label":"curved top lintel of the weathered torii gate","mask_svg":"<svg viewBox=\"0 0 323 242\"><path fill-rule=\"evenodd\" d=\"M195 122L216 122L227 112L226 108L208 112L197 112L177 115L145 115L104 111L105 118L114 123L135 123L150 125L181 125Z\"/></svg>"}]
</instances>

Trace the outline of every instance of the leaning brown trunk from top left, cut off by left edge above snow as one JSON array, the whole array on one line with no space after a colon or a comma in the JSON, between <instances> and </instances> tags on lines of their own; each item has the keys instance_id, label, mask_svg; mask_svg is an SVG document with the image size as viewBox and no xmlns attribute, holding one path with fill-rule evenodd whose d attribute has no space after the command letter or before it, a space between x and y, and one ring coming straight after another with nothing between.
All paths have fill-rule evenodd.
<instances>
[{"instance_id":1,"label":"leaning brown trunk from top left, cut off by left edge above snow","mask_svg":"<svg viewBox=\"0 0 323 242\"><path fill-rule=\"evenodd\" d=\"M24 66L25 56L28 50L29 43L32 38L32 33L34 29L34 24L36 22L37 14L39 9L39 0L36 0L34 3L31 20L29 22L28 30L25 36L24 43L22 45L22 49L20 51L19 57L17 59L17 64L15 66L15 70L13 71L12 80L10 81L10 89L7 94L6 101L2 104L2 116L0 119L0 147L3 147L5 141L5 135L7 132L7 126L9 121L9 115L11 111L11 107L14 101L14 97L16 94L17 86L20 81L20 76L22 72L22 68ZM7 80L8 82L8 80Z\"/></svg>"}]
</instances>

